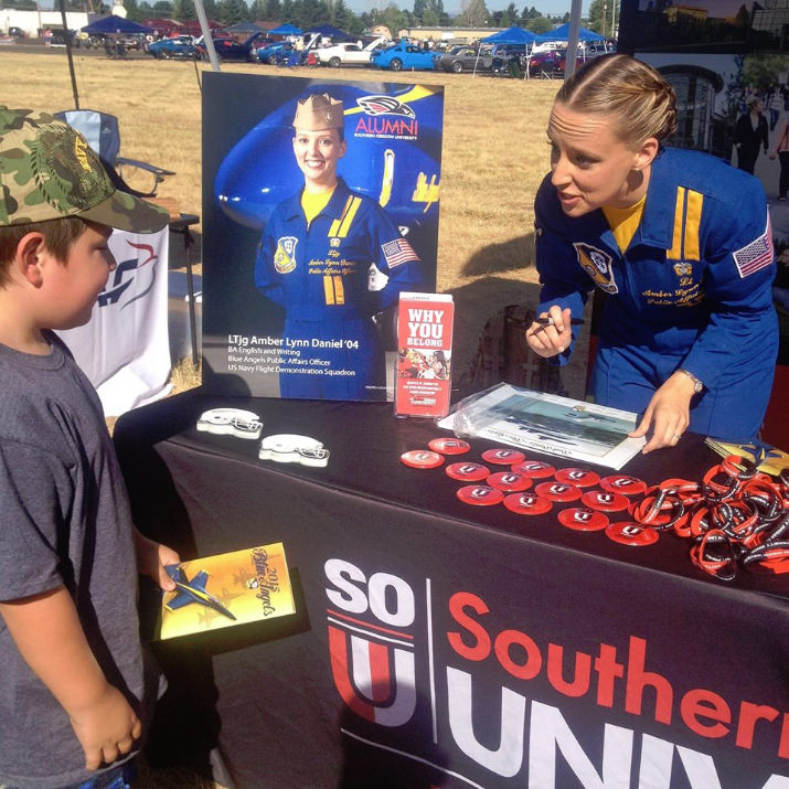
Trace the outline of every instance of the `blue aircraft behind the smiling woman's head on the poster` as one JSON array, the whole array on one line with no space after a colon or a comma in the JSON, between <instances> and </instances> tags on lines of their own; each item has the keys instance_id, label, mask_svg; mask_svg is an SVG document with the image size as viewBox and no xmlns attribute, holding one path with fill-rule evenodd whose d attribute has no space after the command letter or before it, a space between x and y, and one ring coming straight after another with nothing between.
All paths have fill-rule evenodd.
<instances>
[{"instance_id":1,"label":"blue aircraft behind the smiling woman's head on the poster","mask_svg":"<svg viewBox=\"0 0 789 789\"><path fill-rule=\"evenodd\" d=\"M328 93L343 103L348 151L338 173L375 200L392 220L415 227L436 221L444 96L428 85L312 83L303 95ZM294 157L296 100L264 117L227 153L214 200L233 221L262 230L271 211L303 182Z\"/></svg>"}]
</instances>

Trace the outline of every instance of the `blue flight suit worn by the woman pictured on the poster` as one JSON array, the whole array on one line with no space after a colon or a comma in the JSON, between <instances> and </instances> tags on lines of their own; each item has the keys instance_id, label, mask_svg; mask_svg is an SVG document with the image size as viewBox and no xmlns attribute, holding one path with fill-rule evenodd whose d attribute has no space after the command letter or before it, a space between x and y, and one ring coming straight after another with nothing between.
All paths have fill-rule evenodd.
<instances>
[{"instance_id":1,"label":"blue flight suit worn by the woman pictured on the poster","mask_svg":"<svg viewBox=\"0 0 789 789\"><path fill-rule=\"evenodd\" d=\"M378 290L369 287L371 264L388 277ZM282 356L281 396L385 399L385 355L372 318L420 282L411 244L342 179L309 228L301 192L280 203L258 245L255 284L285 308L282 338L300 352Z\"/></svg>"}]
</instances>

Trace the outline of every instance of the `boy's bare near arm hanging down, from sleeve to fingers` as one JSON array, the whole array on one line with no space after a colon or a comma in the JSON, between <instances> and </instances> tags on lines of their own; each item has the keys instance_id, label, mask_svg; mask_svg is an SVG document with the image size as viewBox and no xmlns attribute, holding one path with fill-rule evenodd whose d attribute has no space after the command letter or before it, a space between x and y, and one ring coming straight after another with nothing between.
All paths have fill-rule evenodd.
<instances>
[{"instance_id":1,"label":"boy's bare near arm hanging down, from sleeve to fingers","mask_svg":"<svg viewBox=\"0 0 789 789\"><path fill-rule=\"evenodd\" d=\"M68 714L86 769L128 754L142 725L104 676L65 587L0 603L0 615L22 658Z\"/></svg>"}]
</instances>

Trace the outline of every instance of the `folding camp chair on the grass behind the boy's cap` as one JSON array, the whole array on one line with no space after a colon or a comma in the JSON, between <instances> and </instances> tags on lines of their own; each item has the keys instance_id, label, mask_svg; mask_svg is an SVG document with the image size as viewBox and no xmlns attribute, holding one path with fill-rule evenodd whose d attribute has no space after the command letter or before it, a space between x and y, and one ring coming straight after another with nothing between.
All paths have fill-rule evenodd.
<instances>
[{"instance_id":1,"label":"folding camp chair on the grass behind the boy's cap","mask_svg":"<svg viewBox=\"0 0 789 789\"><path fill-rule=\"evenodd\" d=\"M162 179L175 174L172 170L119 156L120 129L118 118L114 115L95 109L66 109L55 113L55 117L75 128L87 139L90 148L98 153L116 188L124 192L138 198L152 198ZM130 186L127 178L138 188Z\"/></svg>"}]
</instances>

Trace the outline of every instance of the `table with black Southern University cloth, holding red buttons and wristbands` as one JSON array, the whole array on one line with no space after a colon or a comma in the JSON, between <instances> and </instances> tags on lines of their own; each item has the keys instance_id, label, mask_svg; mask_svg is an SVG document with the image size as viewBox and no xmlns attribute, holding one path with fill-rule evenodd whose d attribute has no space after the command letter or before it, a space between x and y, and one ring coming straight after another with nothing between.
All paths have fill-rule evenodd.
<instances>
[{"instance_id":1,"label":"table with black Southern University cloth, holding red buttons and wristbands","mask_svg":"<svg viewBox=\"0 0 789 789\"><path fill-rule=\"evenodd\" d=\"M194 429L228 405L318 438L329 466ZM185 763L218 744L255 789L789 786L786 576L724 585L676 537L632 548L463 504L443 469L399 462L437 435L383 403L200 390L121 417L139 527L184 558L284 541L299 611L160 649L152 746ZM714 462L685 436L625 470Z\"/></svg>"}]
</instances>

